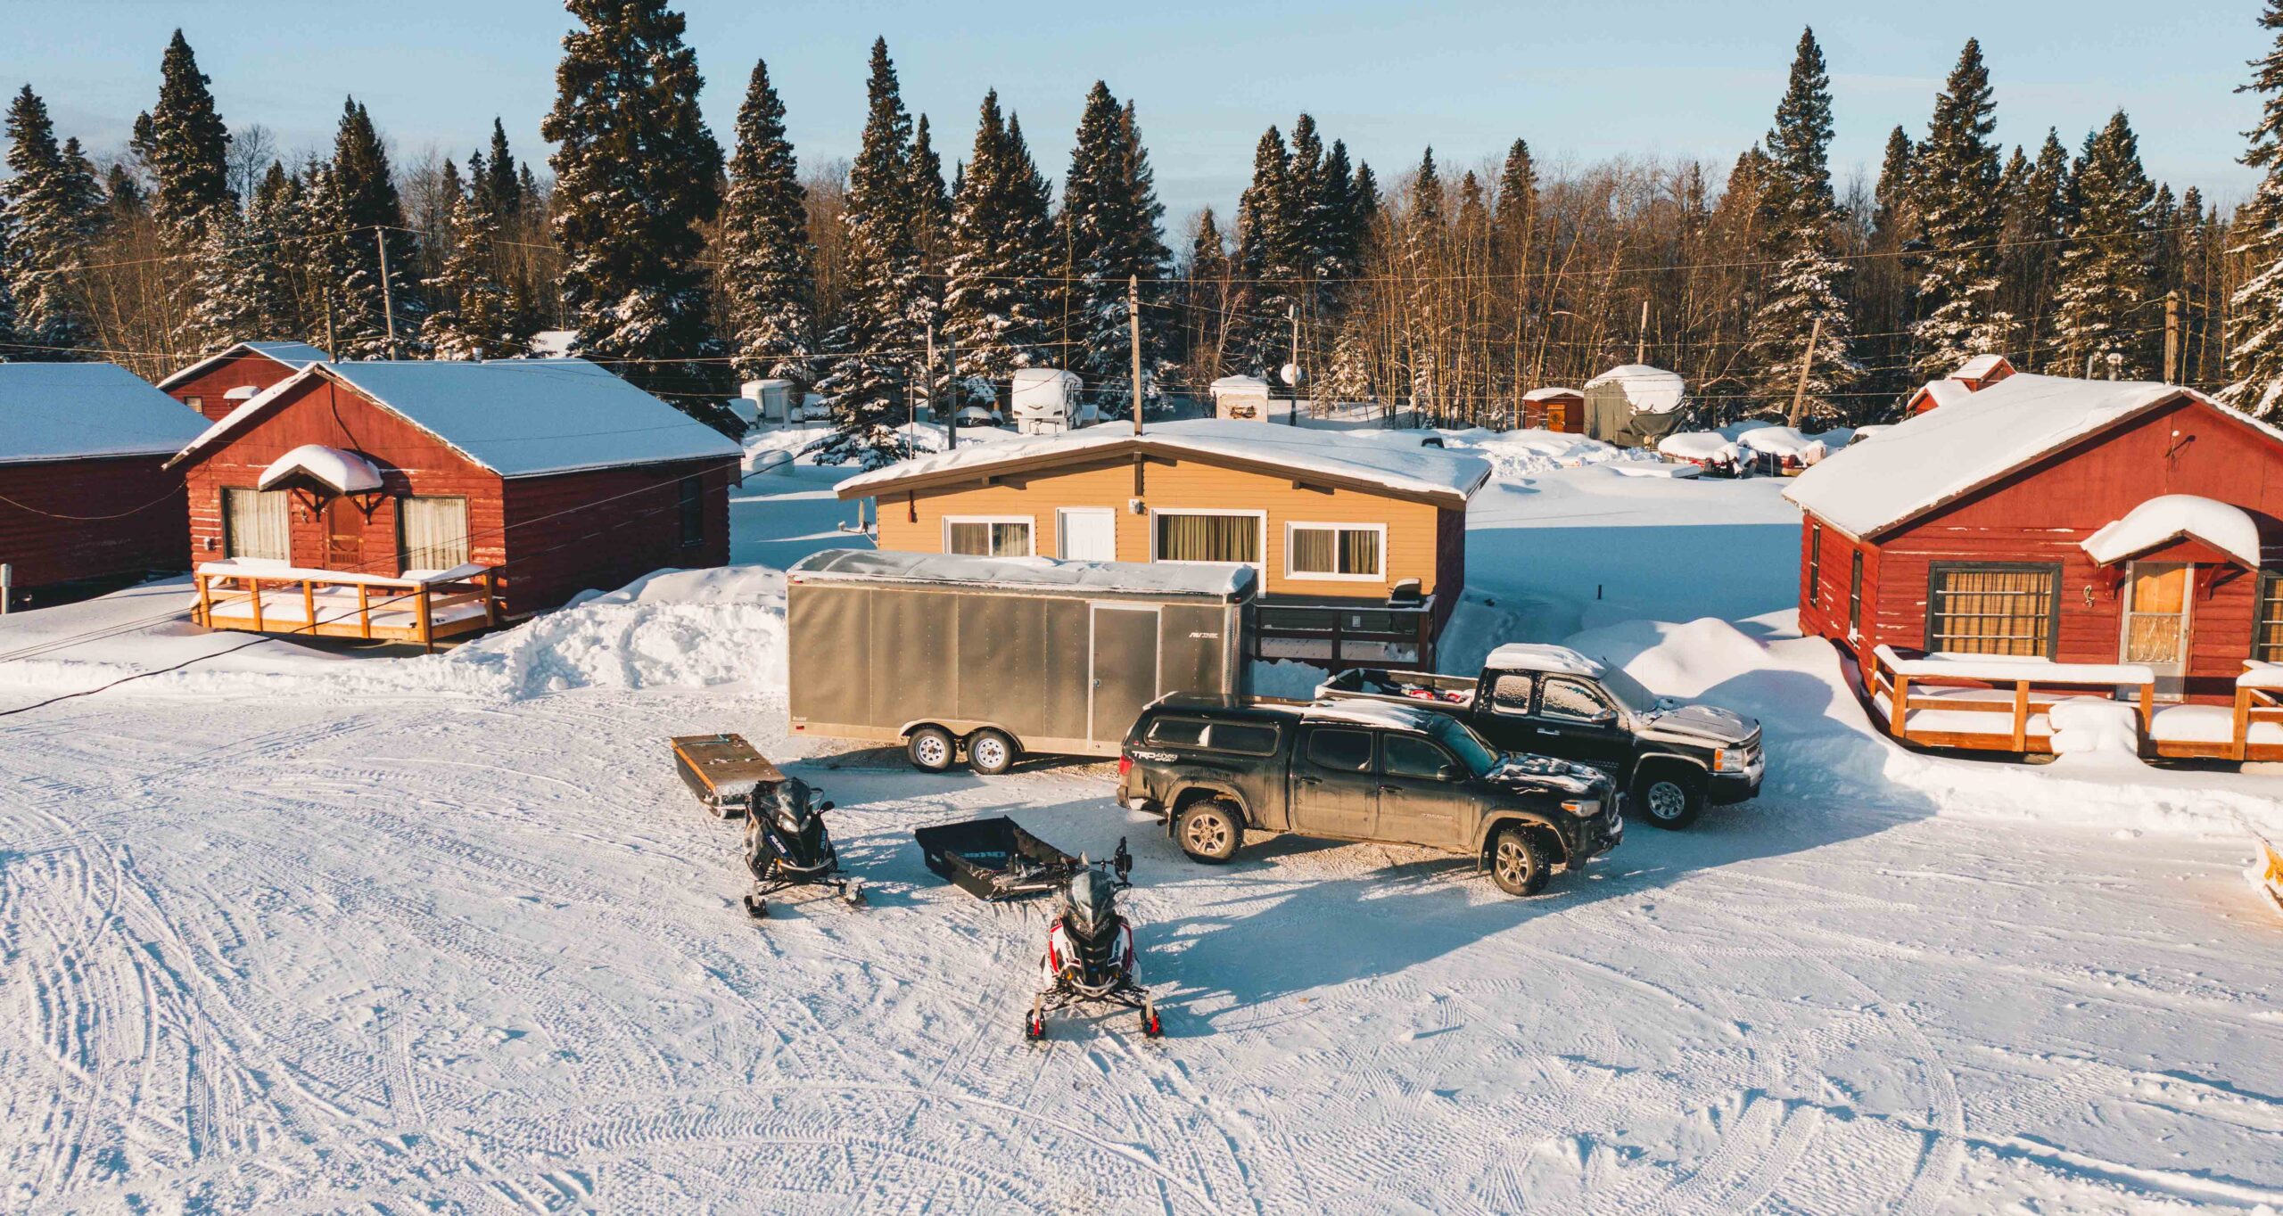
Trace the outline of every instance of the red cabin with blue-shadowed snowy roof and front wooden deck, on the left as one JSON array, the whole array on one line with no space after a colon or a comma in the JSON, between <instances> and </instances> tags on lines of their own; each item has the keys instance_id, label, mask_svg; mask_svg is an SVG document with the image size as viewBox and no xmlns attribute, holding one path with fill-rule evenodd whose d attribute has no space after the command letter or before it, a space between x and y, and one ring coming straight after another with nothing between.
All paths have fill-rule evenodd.
<instances>
[{"instance_id":1,"label":"red cabin with blue-shadowed snowy roof and front wooden deck, on the left","mask_svg":"<svg viewBox=\"0 0 2283 1216\"><path fill-rule=\"evenodd\" d=\"M580 358L313 363L174 459L194 618L431 646L721 566L740 454Z\"/></svg>"}]
</instances>

